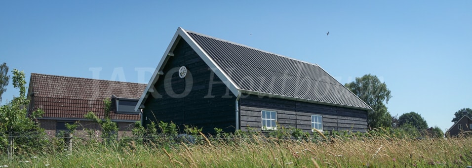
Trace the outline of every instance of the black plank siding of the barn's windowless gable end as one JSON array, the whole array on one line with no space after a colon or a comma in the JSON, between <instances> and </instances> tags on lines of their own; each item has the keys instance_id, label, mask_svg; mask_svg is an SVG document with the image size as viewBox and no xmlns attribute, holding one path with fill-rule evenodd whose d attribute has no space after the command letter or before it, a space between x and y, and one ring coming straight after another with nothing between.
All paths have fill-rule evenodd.
<instances>
[{"instance_id":1,"label":"black plank siding of the barn's windowless gable end","mask_svg":"<svg viewBox=\"0 0 472 168\"><path fill-rule=\"evenodd\" d=\"M154 98L151 94L144 103L143 124L147 125L151 121L163 121L176 123L180 131L183 132L183 125L203 127L203 132L213 133L213 128L223 128L224 131L234 131L236 126L236 96L229 91L231 98L224 96L227 87L214 75L213 98L204 98L209 91L211 71L205 62L197 55L192 47L183 39L177 44L173 51L174 56L170 57L163 68L164 75L161 75L155 84L157 92L162 98ZM172 68L186 66L192 74L192 90L183 98L172 98L165 87L172 89L176 94L185 90L185 80L181 79L178 73L172 75L171 83L164 84L164 78Z\"/></svg>"}]
</instances>

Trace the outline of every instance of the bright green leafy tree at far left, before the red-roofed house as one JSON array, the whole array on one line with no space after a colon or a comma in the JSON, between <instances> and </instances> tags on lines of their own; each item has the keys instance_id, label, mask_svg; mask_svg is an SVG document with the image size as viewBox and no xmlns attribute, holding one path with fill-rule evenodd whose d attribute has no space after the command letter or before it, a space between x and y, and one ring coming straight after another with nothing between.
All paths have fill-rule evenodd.
<instances>
[{"instance_id":1,"label":"bright green leafy tree at far left, before the red-roofed house","mask_svg":"<svg viewBox=\"0 0 472 168\"><path fill-rule=\"evenodd\" d=\"M14 97L13 100L0 107L0 134L8 136L8 157L14 154L15 136L22 136L31 132L43 132L34 120L42 115L41 110L36 110L29 115L26 107L29 100L26 98L26 81L25 73L14 69L13 86L20 89L20 96ZM31 140L30 140L31 141Z\"/></svg>"}]
</instances>

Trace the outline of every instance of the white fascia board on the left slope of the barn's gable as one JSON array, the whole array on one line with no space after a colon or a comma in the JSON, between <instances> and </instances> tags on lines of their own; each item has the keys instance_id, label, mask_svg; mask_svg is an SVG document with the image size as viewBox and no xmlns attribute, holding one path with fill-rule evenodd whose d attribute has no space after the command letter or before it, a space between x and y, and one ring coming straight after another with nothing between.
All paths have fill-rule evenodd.
<instances>
[{"instance_id":1,"label":"white fascia board on the left slope of the barn's gable","mask_svg":"<svg viewBox=\"0 0 472 168\"><path fill-rule=\"evenodd\" d=\"M159 72L161 71L161 68L163 68L164 63L167 62L168 57L170 57L170 55L168 53L171 52L172 50L174 50L175 45L177 45L177 42L179 42L179 40L180 40L180 36L182 36L181 34L182 34L182 30L179 27L177 29L177 32L175 32L174 37L172 38L172 41L170 41L169 45L167 46L167 49L165 49L165 52L162 55L162 58L160 59L159 64L157 64L157 68L154 71L154 74L151 77L151 80L149 81L148 85L144 89L143 94L139 98L139 101L136 104L136 107L134 107L135 111L139 110L139 107L144 103L144 101L148 97L147 94L149 94L149 92L148 92L149 88L151 88L154 84L156 84L157 80L159 79L159 75L161 75L161 73L159 73Z\"/></svg>"}]
</instances>

